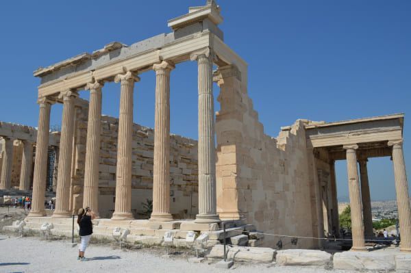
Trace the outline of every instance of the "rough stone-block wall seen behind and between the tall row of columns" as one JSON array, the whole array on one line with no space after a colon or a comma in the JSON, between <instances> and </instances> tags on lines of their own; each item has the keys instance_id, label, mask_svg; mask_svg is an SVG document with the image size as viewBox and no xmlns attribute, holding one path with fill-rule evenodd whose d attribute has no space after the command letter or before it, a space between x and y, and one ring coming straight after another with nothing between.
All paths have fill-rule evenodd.
<instances>
[{"instance_id":1,"label":"rough stone-block wall seen behind and between the tall row of columns","mask_svg":"<svg viewBox=\"0 0 411 273\"><path fill-rule=\"evenodd\" d=\"M72 179L76 185L75 194L81 195L77 196L79 200L82 200L84 185L88 109L84 107L81 112L76 130L76 179ZM102 116L99 165L99 213L102 218L110 218L114 211L118 129L118 118ZM171 135L170 142L171 213L177 219L195 218L198 213L197 141ZM144 215L142 203L153 199L153 147L153 129L135 124L132 145L132 211L135 218L148 217Z\"/></svg>"}]
</instances>

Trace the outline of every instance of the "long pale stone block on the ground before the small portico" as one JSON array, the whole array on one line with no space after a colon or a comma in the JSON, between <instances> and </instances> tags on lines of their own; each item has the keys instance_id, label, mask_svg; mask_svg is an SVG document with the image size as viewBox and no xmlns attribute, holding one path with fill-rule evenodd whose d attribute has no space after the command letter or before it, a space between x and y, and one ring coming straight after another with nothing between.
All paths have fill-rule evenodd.
<instances>
[{"instance_id":1,"label":"long pale stone block on the ground before the small portico","mask_svg":"<svg viewBox=\"0 0 411 273\"><path fill-rule=\"evenodd\" d=\"M394 270L394 253L345 251L336 253L334 269L342 270ZM401 262L400 262L401 263Z\"/></svg>"}]
</instances>

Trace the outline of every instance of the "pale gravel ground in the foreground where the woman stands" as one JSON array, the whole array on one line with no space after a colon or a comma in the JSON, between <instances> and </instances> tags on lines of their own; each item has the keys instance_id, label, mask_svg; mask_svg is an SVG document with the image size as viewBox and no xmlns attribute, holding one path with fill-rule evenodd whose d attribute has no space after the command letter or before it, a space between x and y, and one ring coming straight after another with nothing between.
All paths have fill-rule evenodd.
<instances>
[{"instance_id":1,"label":"pale gravel ground in the foreground where the woman stands","mask_svg":"<svg viewBox=\"0 0 411 273\"><path fill-rule=\"evenodd\" d=\"M77 247L68 240L45 241L39 237L0 235L0 272L227 272L210 261L191 263L184 255L163 257L165 250L120 250L90 245L86 257L77 261ZM213 262L214 263L214 262ZM235 263L232 272L345 272L323 268L276 267L274 264ZM351 272L352 273L352 272Z\"/></svg>"}]
</instances>

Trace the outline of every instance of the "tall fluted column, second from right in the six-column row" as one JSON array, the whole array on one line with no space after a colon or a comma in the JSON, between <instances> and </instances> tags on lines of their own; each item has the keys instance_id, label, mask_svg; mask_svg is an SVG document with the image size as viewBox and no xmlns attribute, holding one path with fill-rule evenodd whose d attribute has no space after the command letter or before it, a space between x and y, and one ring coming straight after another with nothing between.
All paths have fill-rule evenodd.
<instances>
[{"instance_id":1,"label":"tall fluted column, second from right in the six-column row","mask_svg":"<svg viewBox=\"0 0 411 273\"><path fill-rule=\"evenodd\" d=\"M153 213L151 221L171 221L170 213L170 62L154 64L155 128L153 168Z\"/></svg>"}]
</instances>

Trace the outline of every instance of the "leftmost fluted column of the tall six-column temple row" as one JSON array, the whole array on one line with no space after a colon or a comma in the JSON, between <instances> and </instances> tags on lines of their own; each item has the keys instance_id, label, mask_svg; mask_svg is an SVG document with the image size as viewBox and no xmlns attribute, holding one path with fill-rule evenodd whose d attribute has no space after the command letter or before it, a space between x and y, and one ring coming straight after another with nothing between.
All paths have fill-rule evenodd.
<instances>
[{"instance_id":1,"label":"leftmost fluted column of the tall six-column temple row","mask_svg":"<svg viewBox=\"0 0 411 273\"><path fill-rule=\"evenodd\" d=\"M33 198L29 216L45 216L45 192L47 178L47 154L49 147L50 109L53 103L42 98L37 102L40 105L38 114L38 129L36 140L36 157L34 158Z\"/></svg>"}]
</instances>

